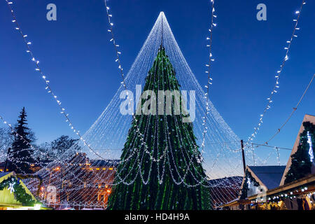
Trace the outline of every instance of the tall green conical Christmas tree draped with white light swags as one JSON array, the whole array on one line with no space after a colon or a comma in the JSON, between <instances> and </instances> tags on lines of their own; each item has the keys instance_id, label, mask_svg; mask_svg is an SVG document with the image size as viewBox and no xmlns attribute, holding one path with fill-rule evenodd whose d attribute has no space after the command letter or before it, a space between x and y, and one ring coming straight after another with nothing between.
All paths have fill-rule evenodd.
<instances>
[{"instance_id":1,"label":"tall green conical Christmas tree draped with white light swags","mask_svg":"<svg viewBox=\"0 0 315 224\"><path fill-rule=\"evenodd\" d=\"M174 92L179 87L161 45L144 86L144 92L155 92L156 97L148 97L148 108L153 109L152 103L156 102L156 114L136 113L132 120L109 196L109 209L211 209L193 123L183 122L189 115L183 109L182 99L181 114L176 115L175 101L171 115L159 113L160 104L165 105L165 110L169 108L164 97L159 99L158 90ZM148 99L142 98L142 107Z\"/></svg>"}]
</instances>

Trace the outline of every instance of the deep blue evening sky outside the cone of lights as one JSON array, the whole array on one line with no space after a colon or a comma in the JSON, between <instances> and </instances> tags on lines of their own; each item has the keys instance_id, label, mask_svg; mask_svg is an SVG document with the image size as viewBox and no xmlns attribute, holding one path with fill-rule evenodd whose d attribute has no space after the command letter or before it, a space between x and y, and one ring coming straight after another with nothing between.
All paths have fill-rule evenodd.
<instances>
[{"instance_id":1,"label":"deep blue evening sky outside the cone of lights","mask_svg":"<svg viewBox=\"0 0 315 224\"><path fill-rule=\"evenodd\" d=\"M257 125L266 98L274 85L274 74L285 55L300 0L217 0L214 30L214 85L211 101L232 130L247 139ZM57 21L46 20L46 6L55 3ZM265 3L267 21L256 20L256 6ZM202 86L207 82L206 37L209 1L110 0L116 39L127 71L149 31L164 11L176 41ZM263 143L286 120L315 72L315 1L302 10L298 37L283 69L279 94L264 118L257 143ZM32 42L36 59L52 88L68 109L73 124L85 132L109 104L121 81L109 42L108 22L102 0L14 1L13 9L22 31ZM5 1L0 1L0 115L15 123L25 106L29 127L40 144L62 134L72 136L57 104L45 93L45 85L25 52L15 31ZM269 144L292 148L305 113L315 114L315 83L276 139ZM267 148L260 147L259 151ZM269 152L269 151L268 151ZM281 151L281 162L290 151Z\"/></svg>"}]
</instances>

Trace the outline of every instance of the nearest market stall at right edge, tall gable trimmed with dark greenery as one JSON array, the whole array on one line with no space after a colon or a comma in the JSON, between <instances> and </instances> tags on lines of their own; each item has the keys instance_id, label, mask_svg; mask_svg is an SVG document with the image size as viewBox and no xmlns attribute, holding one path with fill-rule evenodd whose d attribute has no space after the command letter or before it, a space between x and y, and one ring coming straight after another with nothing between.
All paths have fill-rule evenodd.
<instances>
[{"instance_id":1,"label":"nearest market stall at right edge, tall gable trimmed with dark greenery","mask_svg":"<svg viewBox=\"0 0 315 224\"><path fill-rule=\"evenodd\" d=\"M314 210L315 116L305 115L278 188L267 191L265 209ZM261 198L249 197L255 203Z\"/></svg>"}]
</instances>

